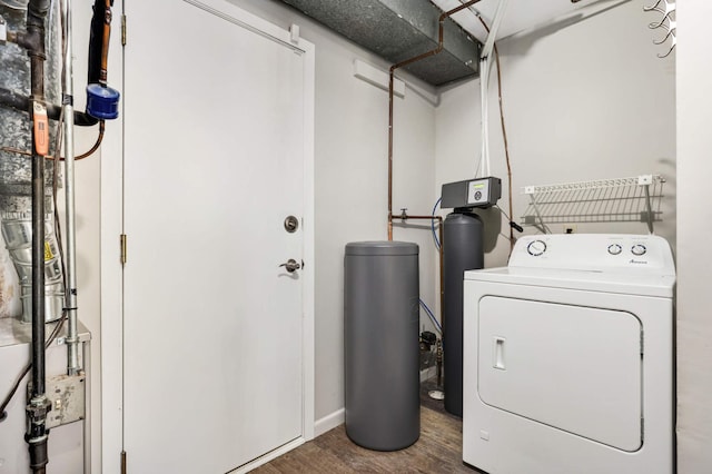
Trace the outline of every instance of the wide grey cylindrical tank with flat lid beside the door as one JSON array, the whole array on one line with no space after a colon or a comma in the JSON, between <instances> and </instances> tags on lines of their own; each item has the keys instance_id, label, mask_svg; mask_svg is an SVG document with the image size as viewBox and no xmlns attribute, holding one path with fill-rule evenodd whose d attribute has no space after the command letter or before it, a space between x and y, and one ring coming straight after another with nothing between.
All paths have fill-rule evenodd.
<instances>
[{"instance_id":1,"label":"wide grey cylindrical tank with flat lid beside the door","mask_svg":"<svg viewBox=\"0 0 712 474\"><path fill-rule=\"evenodd\" d=\"M402 450L421 435L418 246L347 244L344 267L346 434Z\"/></svg>"}]
</instances>

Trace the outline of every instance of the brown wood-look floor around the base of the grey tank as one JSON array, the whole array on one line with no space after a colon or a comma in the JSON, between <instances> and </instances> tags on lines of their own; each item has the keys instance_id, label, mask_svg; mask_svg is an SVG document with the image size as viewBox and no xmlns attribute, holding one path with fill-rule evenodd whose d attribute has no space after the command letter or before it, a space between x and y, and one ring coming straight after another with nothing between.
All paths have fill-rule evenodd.
<instances>
[{"instance_id":1,"label":"brown wood-look floor around the base of the grey tank","mask_svg":"<svg viewBox=\"0 0 712 474\"><path fill-rule=\"evenodd\" d=\"M421 437L395 452L365 450L346 436L340 425L253 471L279 473L467 473L477 471L462 462L463 423L448 414L443 402L427 397L434 384L421 391Z\"/></svg>"}]
</instances>

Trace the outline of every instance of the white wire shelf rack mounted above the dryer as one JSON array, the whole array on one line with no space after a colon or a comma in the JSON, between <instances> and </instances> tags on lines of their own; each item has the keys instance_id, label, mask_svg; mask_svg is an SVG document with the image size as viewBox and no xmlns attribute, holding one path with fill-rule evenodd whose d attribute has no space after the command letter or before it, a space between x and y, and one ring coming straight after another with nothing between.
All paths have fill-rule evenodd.
<instances>
[{"instance_id":1,"label":"white wire shelf rack mounted above the dryer","mask_svg":"<svg viewBox=\"0 0 712 474\"><path fill-rule=\"evenodd\" d=\"M599 179L561 185L525 186L530 204L522 216L527 226L547 231L547 224L653 223L662 220L665 179L659 175Z\"/></svg>"}]
</instances>

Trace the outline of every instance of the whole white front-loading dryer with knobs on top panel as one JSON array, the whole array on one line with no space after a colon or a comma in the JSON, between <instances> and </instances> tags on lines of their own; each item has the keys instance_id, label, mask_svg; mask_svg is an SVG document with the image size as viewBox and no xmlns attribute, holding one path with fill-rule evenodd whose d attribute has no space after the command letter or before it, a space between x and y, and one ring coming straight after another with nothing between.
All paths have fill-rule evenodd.
<instances>
[{"instance_id":1,"label":"whole white front-loading dryer with knobs on top panel","mask_svg":"<svg viewBox=\"0 0 712 474\"><path fill-rule=\"evenodd\" d=\"M507 267L466 271L463 461L672 473L674 283L656 236L527 236Z\"/></svg>"}]
</instances>

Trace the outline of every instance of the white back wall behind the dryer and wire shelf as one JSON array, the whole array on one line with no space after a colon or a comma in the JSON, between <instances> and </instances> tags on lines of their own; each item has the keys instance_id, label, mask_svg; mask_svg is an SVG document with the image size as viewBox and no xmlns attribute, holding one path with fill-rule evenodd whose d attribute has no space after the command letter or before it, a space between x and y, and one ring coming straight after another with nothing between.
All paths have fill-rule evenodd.
<instances>
[{"instance_id":1,"label":"white back wall behind the dryer and wire shelf","mask_svg":"<svg viewBox=\"0 0 712 474\"><path fill-rule=\"evenodd\" d=\"M630 1L577 23L552 22L498 42L503 105L513 171L514 220L528 199L527 185L660 174L664 187L663 223L655 233L675 245L675 90L674 53L656 58L656 20ZM505 20L506 21L506 18ZM497 78L490 80L490 147L492 174L507 180L497 105ZM474 176L479 159L479 80L459 85L442 96L437 109L436 186ZM508 213L508 210L507 210ZM484 214L491 229L501 216ZM562 225L552 225L562 233ZM536 231L527 228L527 233ZM577 225L577 231L636 233L634 224ZM508 226L502 220L502 233ZM488 233L491 234L491 233ZM516 236L516 233L515 233ZM490 246L496 236L490 235ZM507 240L500 236L485 266L506 264Z\"/></svg>"}]
</instances>

